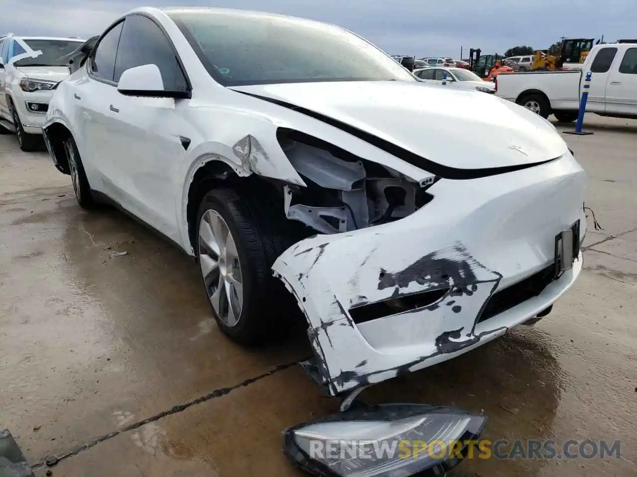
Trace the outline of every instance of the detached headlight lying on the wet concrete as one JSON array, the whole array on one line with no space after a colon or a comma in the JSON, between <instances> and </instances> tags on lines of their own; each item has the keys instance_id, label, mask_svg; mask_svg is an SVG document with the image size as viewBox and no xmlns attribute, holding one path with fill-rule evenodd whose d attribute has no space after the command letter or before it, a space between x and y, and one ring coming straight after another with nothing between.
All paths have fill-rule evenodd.
<instances>
[{"instance_id":1,"label":"detached headlight lying on the wet concrete","mask_svg":"<svg viewBox=\"0 0 637 477\"><path fill-rule=\"evenodd\" d=\"M321 477L442 476L486 422L453 408L383 404L287 429L283 446L296 464Z\"/></svg>"}]
</instances>

